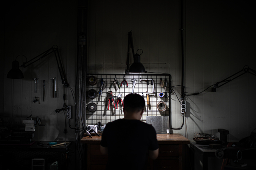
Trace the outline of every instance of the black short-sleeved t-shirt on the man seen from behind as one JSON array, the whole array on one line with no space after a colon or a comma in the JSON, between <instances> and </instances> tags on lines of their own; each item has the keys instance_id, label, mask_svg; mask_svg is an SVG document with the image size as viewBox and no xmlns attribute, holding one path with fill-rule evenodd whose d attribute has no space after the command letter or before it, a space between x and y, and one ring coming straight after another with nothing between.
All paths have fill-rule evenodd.
<instances>
[{"instance_id":1,"label":"black short-sleeved t-shirt on the man seen from behind","mask_svg":"<svg viewBox=\"0 0 256 170\"><path fill-rule=\"evenodd\" d=\"M147 151L158 149L155 128L128 119L107 123L101 146L108 148L107 170L143 170Z\"/></svg>"}]
</instances>

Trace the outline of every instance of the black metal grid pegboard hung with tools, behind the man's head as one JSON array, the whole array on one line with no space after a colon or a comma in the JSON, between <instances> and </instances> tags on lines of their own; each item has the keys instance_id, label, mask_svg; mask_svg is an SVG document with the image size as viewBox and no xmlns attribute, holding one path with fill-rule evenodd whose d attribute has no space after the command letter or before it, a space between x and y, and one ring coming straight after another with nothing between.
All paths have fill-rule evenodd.
<instances>
[{"instance_id":1,"label":"black metal grid pegboard hung with tools, behind the man's head","mask_svg":"<svg viewBox=\"0 0 256 170\"><path fill-rule=\"evenodd\" d=\"M151 81L147 84L146 81L140 82L141 79L153 79L154 82L154 88L155 88L155 96L153 94L149 94L149 105L147 104L147 97L144 95L145 98L145 109L143 116L141 118L141 121L146 122L146 116L169 116L170 118L170 106L171 106L171 93L170 93L170 82L171 82L171 75L170 74L87 74L87 77L94 76L97 78L97 83L95 85L90 85L89 83L86 83L86 93L94 89L98 93L100 91L100 81L101 78L103 81L107 81L107 87L103 90L101 94L100 101L98 103L98 96L94 99L91 99L86 95L86 125L94 125L97 122L101 122L101 124L107 124L108 122L112 122L114 120L117 120L119 118L123 118L123 108L120 102L118 103L117 109L114 108L113 104L110 105L109 110L107 109L108 105L108 98L107 98L107 92L112 91L113 96L117 96L119 93L122 93L122 99L129 93L132 93L133 89L133 81L132 78L137 79L136 85L134 88L134 93L138 93L142 95L142 93L146 92L152 92L153 85L151 85ZM128 87L123 86L120 89L115 90L115 88L111 86L112 80L114 78L117 78L117 81L121 85L121 82L123 81L123 76L125 76L126 81L128 82ZM160 80L166 80L167 86L166 89L160 87ZM167 96L160 98L159 93L167 93ZM117 100L117 97L114 97L114 101ZM159 111L157 108L157 104L163 101L166 104L166 109L164 111ZM87 106L89 103L95 103L97 105L97 110L92 113L88 110ZM161 104L159 104L161 106ZM163 105L164 106L164 105ZM169 122L171 120L169 119Z\"/></svg>"}]
</instances>

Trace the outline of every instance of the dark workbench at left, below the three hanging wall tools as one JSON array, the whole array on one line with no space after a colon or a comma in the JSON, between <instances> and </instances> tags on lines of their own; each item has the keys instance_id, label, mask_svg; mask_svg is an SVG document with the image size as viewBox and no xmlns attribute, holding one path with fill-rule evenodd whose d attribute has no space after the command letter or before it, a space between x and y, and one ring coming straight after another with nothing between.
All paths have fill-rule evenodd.
<instances>
[{"instance_id":1,"label":"dark workbench at left, below the three hanging wall tools","mask_svg":"<svg viewBox=\"0 0 256 170\"><path fill-rule=\"evenodd\" d=\"M31 169L32 159L42 158L47 164L58 161L58 170L66 170L68 162L66 153L69 152L71 142L68 144L49 147L49 145L37 146L37 142L47 144L52 141L34 141L30 144L0 144L0 169ZM58 144L63 141L57 141ZM46 168L45 168L46 169Z\"/></svg>"}]
</instances>

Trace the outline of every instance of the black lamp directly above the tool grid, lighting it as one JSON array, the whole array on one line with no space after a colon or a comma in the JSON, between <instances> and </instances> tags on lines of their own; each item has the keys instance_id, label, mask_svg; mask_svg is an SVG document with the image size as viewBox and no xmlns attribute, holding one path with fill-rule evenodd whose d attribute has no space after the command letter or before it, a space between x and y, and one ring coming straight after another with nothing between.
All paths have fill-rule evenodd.
<instances>
[{"instance_id":1,"label":"black lamp directly above the tool grid, lighting it","mask_svg":"<svg viewBox=\"0 0 256 170\"><path fill-rule=\"evenodd\" d=\"M129 67L130 47L132 48L132 52L133 52L133 64L131 65L131 67ZM141 49L138 49L138 50L141 50ZM132 36L132 31L130 31L128 32L127 68L125 70L126 74L129 74L129 72L146 72L145 67L140 62L140 55L143 53L143 51L141 50L142 53L138 54L138 50L136 54L134 54L133 36Z\"/></svg>"}]
</instances>

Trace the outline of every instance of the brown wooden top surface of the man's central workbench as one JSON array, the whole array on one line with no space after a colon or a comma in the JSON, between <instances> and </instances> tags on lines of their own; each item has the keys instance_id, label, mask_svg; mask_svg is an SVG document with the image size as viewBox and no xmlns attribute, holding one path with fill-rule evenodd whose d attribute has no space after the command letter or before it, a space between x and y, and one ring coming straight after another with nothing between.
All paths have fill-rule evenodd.
<instances>
[{"instance_id":1,"label":"brown wooden top surface of the man's central workbench","mask_svg":"<svg viewBox=\"0 0 256 170\"><path fill-rule=\"evenodd\" d=\"M181 134L156 134L156 138L159 144L189 144L190 140L182 136ZM81 141L83 144L99 144L101 142L101 136L84 136Z\"/></svg>"}]
</instances>

